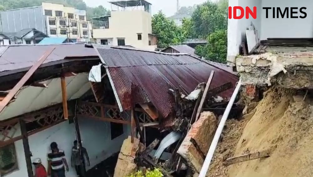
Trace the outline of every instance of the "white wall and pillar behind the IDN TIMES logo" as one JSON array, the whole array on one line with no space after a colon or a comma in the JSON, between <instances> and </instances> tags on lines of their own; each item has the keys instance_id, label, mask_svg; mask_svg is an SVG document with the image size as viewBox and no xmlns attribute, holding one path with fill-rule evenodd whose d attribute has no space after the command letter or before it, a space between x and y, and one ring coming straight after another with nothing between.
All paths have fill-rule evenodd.
<instances>
[{"instance_id":1,"label":"white wall and pillar behind the IDN TIMES logo","mask_svg":"<svg viewBox=\"0 0 313 177\"><path fill-rule=\"evenodd\" d=\"M254 24L258 30L260 40L267 38L312 38L313 37L313 1L311 0L229 0L228 5L231 7L241 6L257 7L257 18L228 19L228 62L234 61L239 54L239 47L245 38L245 30L251 24ZM269 18L266 18L266 11L263 7L306 7L306 18L273 18L272 10L269 10ZM290 9L289 9L290 10ZM240 14L237 13L237 14ZM302 15L298 10L298 16ZM290 16L290 12L289 12Z\"/></svg>"}]
</instances>

